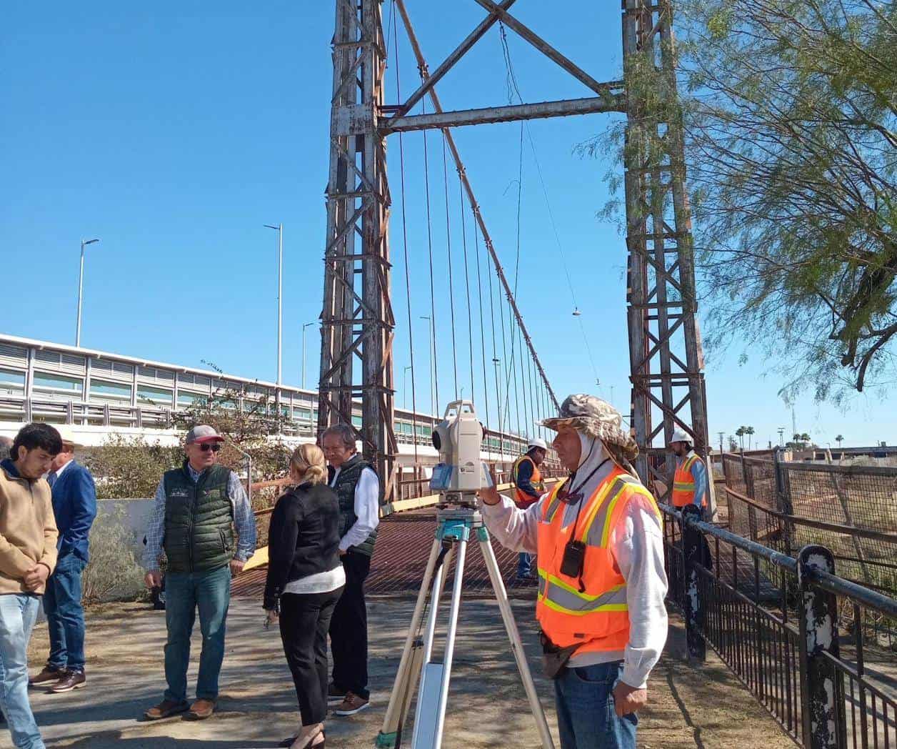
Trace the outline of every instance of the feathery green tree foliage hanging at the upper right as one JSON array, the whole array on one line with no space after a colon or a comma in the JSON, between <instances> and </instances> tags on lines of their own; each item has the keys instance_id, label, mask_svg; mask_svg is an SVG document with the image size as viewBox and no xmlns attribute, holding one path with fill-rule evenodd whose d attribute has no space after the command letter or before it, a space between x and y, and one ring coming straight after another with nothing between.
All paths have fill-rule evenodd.
<instances>
[{"instance_id":1,"label":"feathery green tree foliage hanging at the upper right","mask_svg":"<svg viewBox=\"0 0 897 749\"><path fill-rule=\"evenodd\" d=\"M582 150L675 167L675 128L652 123L681 122L708 348L762 354L786 397L884 392L897 374L897 5L679 0L675 12L677 90L655 59L626 60L640 119Z\"/></svg>"}]
</instances>

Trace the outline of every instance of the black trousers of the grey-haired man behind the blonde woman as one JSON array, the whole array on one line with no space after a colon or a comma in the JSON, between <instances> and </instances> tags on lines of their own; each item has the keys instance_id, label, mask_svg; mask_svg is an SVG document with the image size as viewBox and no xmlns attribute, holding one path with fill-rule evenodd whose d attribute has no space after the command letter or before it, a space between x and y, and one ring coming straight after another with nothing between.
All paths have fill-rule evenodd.
<instances>
[{"instance_id":1,"label":"black trousers of the grey-haired man behind the blonde woman","mask_svg":"<svg viewBox=\"0 0 897 749\"><path fill-rule=\"evenodd\" d=\"M343 595L330 620L330 652L334 659L334 686L364 700L368 692L368 609L364 603L364 579L370 557L348 551L342 557L345 570Z\"/></svg>"}]
</instances>

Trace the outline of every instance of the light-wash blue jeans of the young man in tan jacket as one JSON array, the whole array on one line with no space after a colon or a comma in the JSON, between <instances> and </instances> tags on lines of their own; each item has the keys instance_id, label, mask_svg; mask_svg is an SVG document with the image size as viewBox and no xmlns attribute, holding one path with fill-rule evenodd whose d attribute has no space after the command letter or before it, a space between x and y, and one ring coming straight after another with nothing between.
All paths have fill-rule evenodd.
<instances>
[{"instance_id":1,"label":"light-wash blue jeans of the young man in tan jacket","mask_svg":"<svg viewBox=\"0 0 897 749\"><path fill-rule=\"evenodd\" d=\"M0 709L19 749L45 749L28 701L28 640L39 605L37 595L0 595Z\"/></svg>"}]
</instances>

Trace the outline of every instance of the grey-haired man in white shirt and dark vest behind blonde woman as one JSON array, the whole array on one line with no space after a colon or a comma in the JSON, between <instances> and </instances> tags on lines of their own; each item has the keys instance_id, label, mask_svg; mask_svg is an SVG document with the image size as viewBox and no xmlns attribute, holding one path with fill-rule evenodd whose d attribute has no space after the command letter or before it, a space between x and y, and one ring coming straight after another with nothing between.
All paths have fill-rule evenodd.
<instances>
[{"instance_id":1,"label":"grey-haired man in white shirt and dark vest behind blonde woman","mask_svg":"<svg viewBox=\"0 0 897 749\"><path fill-rule=\"evenodd\" d=\"M321 448L330 464L330 488L339 498L339 551L345 571L343 595L330 620L334 670L327 701L339 702L335 715L349 716L366 709L370 700L364 580L377 540L380 481L370 463L357 454L351 427L328 427L321 435Z\"/></svg>"}]
</instances>

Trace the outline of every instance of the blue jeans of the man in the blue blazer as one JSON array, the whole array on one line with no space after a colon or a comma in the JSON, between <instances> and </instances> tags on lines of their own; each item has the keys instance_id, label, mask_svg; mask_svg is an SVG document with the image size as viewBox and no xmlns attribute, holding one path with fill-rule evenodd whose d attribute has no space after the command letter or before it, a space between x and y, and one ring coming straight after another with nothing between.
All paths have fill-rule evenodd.
<instances>
[{"instance_id":1,"label":"blue jeans of the man in the blue blazer","mask_svg":"<svg viewBox=\"0 0 897 749\"><path fill-rule=\"evenodd\" d=\"M84 670L84 610L81 605L81 573L84 560L74 553L57 561L47 581L44 613L50 633L50 668Z\"/></svg>"}]
</instances>

